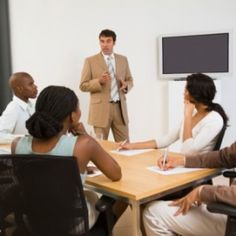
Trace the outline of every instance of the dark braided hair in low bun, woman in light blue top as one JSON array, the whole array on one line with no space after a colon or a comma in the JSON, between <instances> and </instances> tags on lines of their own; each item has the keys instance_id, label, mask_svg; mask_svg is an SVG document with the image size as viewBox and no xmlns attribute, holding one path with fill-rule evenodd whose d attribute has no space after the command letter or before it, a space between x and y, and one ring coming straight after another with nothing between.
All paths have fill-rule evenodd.
<instances>
[{"instance_id":1,"label":"dark braided hair in low bun, woman in light blue top","mask_svg":"<svg viewBox=\"0 0 236 236\"><path fill-rule=\"evenodd\" d=\"M51 138L63 129L64 119L76 111L78 102L71 89L48 86L39 94L35 113L26 121L26 128L35 138Z\"/></svg>"}]
</instances>

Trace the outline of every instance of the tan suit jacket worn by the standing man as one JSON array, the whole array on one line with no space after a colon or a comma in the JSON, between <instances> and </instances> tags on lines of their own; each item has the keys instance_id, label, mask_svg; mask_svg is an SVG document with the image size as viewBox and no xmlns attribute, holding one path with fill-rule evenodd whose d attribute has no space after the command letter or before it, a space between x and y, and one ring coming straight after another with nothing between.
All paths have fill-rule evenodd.
<instances>
[{"instance_id":1,"label":"tan suit jacket worn by the standing man","mask_svg":"<svg viewBox=\"0 0 236 236\"><path fill-rule=\"evenodd\" d=\"M126 57L114 54L116 63L116 79L119 85L119 79L128 83L128 91L133 87L133 78L130 73L128 60ZM110 91L111 83L101 85L99 79L104 72L108 71L107 64L102 53L96 54L85 60L81 74L80 89L83 92L90 92L90 107L88 123L95 127L105 128L109 121L110 109ZM127 92L128 92L127 91ZM128 124L128 113L125 93L119 90L122 117L125 124Z\"/></svg>"}]
</instances>

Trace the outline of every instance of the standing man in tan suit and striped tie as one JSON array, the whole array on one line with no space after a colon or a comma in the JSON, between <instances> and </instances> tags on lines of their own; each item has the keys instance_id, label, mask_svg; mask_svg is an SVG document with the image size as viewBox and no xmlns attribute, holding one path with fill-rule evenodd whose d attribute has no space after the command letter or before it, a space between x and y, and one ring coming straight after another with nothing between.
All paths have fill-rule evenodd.
<instances>
[{"instance_id":1,"label":"standing man in tan suit and striped tie","mask_svg":"<svg viewBox=\"0 0 236 236\"><path fill-rule=\"evenodd\" d=\"M81 91L90 92L88 123L104 139L111 129L116 142L129 140L125 95L133 87L133 78L128 60L113 53L115 32L102 30L99 42L101 52L85 60L80 82Z\"/></svg>"}]
</instances>

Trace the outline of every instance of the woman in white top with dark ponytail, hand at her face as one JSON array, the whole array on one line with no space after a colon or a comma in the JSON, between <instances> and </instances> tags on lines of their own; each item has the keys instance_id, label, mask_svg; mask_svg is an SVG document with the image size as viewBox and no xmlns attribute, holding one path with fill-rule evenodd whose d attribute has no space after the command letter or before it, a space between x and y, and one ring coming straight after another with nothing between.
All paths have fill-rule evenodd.
<instances>
[{"instance_id":1,"label":"woman in white top with dark ponytail, hand at her face","mask_svg":"<svg viewBox=\"0 0 236 236\"><path fill-rule=\"evenodd\" d=\"M165 148L178 139L184 154L212 150L228 117L218 103L213 103L216 87L205 74L192 74L186 79L184 119L180 127L157 140L120 144L121 149Z\"/></svg>"}]
</instances>

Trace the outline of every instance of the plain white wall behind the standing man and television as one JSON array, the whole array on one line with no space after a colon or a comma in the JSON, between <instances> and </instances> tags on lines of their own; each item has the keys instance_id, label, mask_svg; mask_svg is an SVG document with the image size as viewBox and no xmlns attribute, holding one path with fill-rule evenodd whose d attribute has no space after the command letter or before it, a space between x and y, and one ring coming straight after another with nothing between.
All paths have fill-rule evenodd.
<instances>
[{"instance_id":1,"label":"plain white wall behind the standing man and television","mask_svg":"<svg viewBox=\"0 0 236 236\"><path fill-rule=\"evenodd\" d=\"M167 82L158 78L158 36L234 32L235 12L235 0L10 0L13 70L31 73L40 89L49 84L74 89L86 123L89 94L79 91L84 58L99 51L99 32L113 29L115 51L128 57L135 83L128 95L131 139L153 138L168 126ZM231 124L225 145L236 133L235 72L234 63L233 76L222 80L222 104Z\"/></svg>"}]
</instances>

